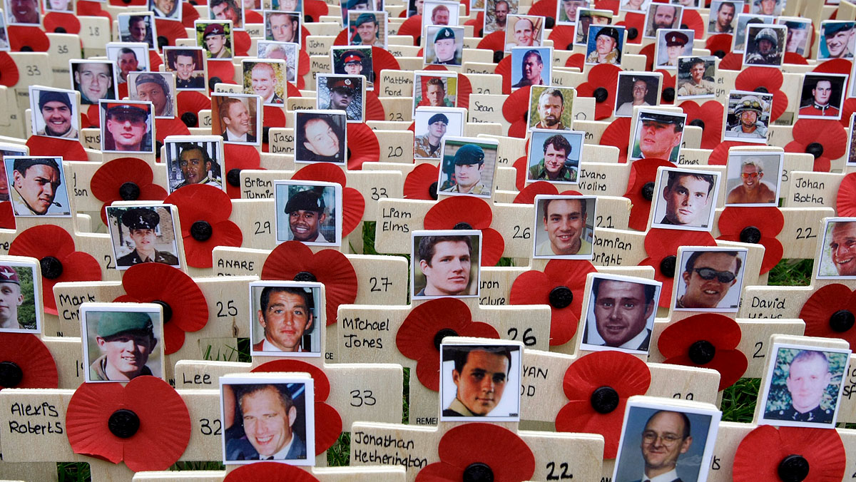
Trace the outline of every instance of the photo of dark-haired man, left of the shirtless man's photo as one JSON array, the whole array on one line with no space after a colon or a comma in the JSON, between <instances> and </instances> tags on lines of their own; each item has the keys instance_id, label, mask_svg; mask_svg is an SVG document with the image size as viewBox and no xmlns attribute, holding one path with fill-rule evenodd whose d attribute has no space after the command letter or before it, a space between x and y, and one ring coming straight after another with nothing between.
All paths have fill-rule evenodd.
<instances>
[{"instance_id":1,"label":"photo of dark-haired man, left of the shirtless man's photo","mask_svg":"<svg viewBox=\"0 0 856 482\"><path fill-rule=\"evenodd\" d=\"M662 199L655 201L653 225L707 230L716 205L717 175L704 171L663 170L663 177L660 182L664 182L665 187Z\"/></svg>"}]
</instances>

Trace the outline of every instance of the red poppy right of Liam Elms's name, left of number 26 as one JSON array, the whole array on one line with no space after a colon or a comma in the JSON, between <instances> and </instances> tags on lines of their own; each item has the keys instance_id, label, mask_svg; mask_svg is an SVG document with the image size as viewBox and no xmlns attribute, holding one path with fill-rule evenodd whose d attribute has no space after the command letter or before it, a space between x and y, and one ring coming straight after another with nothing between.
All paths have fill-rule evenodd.
<instances>
[{"instance_id":1,"label":"red poppy right of Liam Elms's name, left of number 26","mask_svg":"<svg viewBox=\"0 0 856 482\"><path fill-rule=\"evenodd\" d=\"M490 227L493 211L484 199L473 196L454 196L443 199L425 214L425 229L455 229L461 223L467 229L479 229L482 233L481 265L495 266L505 251L505 240L499 231Z\"/></svg>"}]
</instances>

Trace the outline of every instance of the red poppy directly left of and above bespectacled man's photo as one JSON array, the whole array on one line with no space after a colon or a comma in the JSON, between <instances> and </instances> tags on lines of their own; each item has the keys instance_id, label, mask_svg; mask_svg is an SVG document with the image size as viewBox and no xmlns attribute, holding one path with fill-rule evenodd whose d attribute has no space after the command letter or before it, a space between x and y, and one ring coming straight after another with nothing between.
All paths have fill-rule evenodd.
<instances>
[{"instance_id":1,"label":"red poppy directly left of and above bespectacled man's photo","mask_svg":"<svg viewBox=\"0 0 856 482\"><path fill-rule=\"evenodd\" d=\"M651 372L644 361L609 350L587 354L568 366L562 388L570 402L556 414L556 431L603 435L603 458L614 459L627 398L645 395Z\"/></svg>"}]
</instances>

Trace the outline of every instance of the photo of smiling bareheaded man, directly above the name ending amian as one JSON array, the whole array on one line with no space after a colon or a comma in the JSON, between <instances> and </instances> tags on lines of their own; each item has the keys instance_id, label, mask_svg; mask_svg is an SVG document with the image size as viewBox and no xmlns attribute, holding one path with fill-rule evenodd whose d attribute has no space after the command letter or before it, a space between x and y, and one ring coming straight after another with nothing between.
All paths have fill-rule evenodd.
<instances>
[{"instance_id":1,"label":"photo of smiling bareheaded man, directly above the name ending amian","mask_svg":"<svg viewBox=\"0 0 856 482\"><path fill-rule=\"evenodd\" d=\"M535 258L591 259L594 198L538 195L535 206Z\"/></svg>"}]
</instances>

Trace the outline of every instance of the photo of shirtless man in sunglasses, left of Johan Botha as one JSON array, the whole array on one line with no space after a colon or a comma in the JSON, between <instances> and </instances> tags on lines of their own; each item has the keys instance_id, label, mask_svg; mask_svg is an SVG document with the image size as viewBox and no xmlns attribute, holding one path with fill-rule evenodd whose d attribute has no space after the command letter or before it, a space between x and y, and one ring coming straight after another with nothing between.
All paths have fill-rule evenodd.
<instances>
[{"instance_id":1,"label":"photo of shirtless man in sunglasses, left of Johan Botha","mask_svg":"<svg viewBox=\"0 0 856 482\"><path fill-rule=\"evenodd\" d=\"M725 205L778 205L776 192L782 169L782 154L729 152L728 197ZM764 168L770 180L764 181Z\"/></svg>"}]
</instances>

